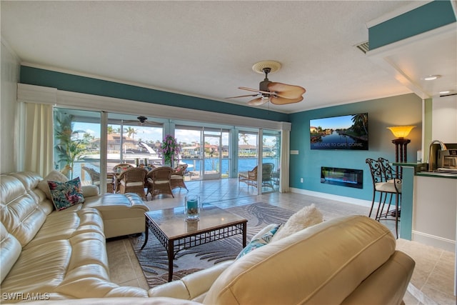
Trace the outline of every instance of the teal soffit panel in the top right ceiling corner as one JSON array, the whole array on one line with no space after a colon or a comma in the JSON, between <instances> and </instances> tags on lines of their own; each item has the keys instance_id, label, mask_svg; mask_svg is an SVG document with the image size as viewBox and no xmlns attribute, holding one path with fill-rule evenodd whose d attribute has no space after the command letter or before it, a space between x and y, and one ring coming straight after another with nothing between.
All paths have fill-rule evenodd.
<instances>
[{"instance_id":1,"label":"teal soffit panel in the top right ceiling corner","mask_svg":"<svg viewBox=\"0 0 457 305\"><path fill-rule=\"evenodd\" d=\"M431 1L368 29L370 49L456 22L451 1Z\"/></svg>"}]
</instances>

